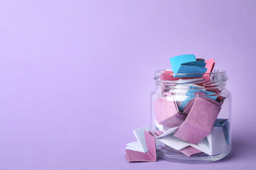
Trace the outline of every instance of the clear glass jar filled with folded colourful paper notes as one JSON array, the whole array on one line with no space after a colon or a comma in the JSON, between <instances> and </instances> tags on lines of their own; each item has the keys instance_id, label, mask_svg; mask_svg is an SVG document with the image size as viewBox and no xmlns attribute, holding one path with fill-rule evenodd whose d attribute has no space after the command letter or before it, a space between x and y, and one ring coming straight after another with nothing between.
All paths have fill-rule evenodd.
<instances>
[{"instance_id":1,"label":"clear glass jar filled with folded colourful paper notes","mask_svg":"<svg viewBox=\"0 0 256 170\"><path fill-rule=\"evenodd\" d=\"M173 74L156 71L151 94L151 129L158 157L202 163L231 150L230 93L226 71Z\"/></svg>"}]
</instances>

